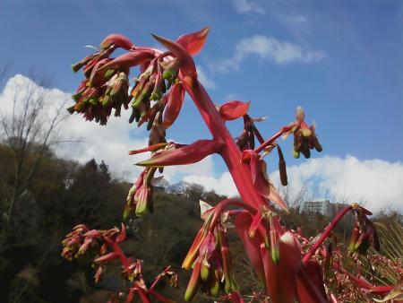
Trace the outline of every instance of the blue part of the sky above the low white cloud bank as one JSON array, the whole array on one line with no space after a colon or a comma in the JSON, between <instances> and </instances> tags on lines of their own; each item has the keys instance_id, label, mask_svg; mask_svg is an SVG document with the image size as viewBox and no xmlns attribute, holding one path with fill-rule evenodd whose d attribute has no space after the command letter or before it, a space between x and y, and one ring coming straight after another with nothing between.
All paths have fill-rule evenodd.
<instances>
[{"instance_id":1,"label":"blue part of the sky above the low white cloud bank","mask_svg":"<svg viewBox=\"0 0 403 303\"><path fill-rule=\"evenodd\" d=\"M34 68L66 92L81 80L70 65L89 53L83 46L109 33L157 46L150 33L175 39L210 25L195 59L213 100L252 100L252 116L269 117L265 136L303 106L324 147L313 157L403 160L402 1L3 0L0 20L0 64L11 74ZM209 137L190 101L169 137ZM291 145L283 150L296 165Z\"/></svg>"}]
</instances>

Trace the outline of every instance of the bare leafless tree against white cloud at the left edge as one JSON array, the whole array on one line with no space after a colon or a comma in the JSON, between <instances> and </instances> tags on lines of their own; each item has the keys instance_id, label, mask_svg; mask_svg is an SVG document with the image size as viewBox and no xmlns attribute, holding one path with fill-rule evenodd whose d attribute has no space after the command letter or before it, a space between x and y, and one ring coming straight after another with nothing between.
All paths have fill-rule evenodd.
<instances>
[{"instance_id":1,"label":"bare leafless tree against white cloud at the left edge","mask_svg":"<svg viewBox=\"0 0 403 303\"><path fill-rule=\"evenodd\" d=\"M0 177L1 225L0 247L13 218L15 203L27 194L39 162L54 144L63 142L60 126L67 117L65 102L48 100L44 89L49 82L26 82L13 87L12 94L0 108L1 144L11 153L12 179Z\"/></svg>"}]
</instances>

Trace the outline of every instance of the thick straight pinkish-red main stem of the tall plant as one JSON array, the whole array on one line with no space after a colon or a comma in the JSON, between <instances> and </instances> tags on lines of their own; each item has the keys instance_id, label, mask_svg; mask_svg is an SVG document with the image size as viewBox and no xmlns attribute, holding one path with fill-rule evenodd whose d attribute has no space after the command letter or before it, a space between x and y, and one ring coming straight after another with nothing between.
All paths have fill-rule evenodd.
<instances>
[{"instance_id":1,"label":"thick straight pinkish-red main stem of the tall plant","mask_svg":"<svg viewBox=\"0 0 403 303\"><path fill-rule=\"evenodd\" d=\"M180 78L182 78L181 75ZM199 109L201 117L208 126L213 139L224 143L226 146L226 148L222 149L220 155L227 164L227 168L234 180L239 195L241 195L241 199L244 203L249 204L255 209L258 209L261 205L267 205L262 195L259 195L254 189L251 169L248 165L241 162L242 153L229 133L227 126L225 126L222 118L219 116L219 112L208 93L200 82L195 82L192 86L188 85L185 81L183 82L185 90L192 98L196 108Z\"/></svg>"}]
</instances>

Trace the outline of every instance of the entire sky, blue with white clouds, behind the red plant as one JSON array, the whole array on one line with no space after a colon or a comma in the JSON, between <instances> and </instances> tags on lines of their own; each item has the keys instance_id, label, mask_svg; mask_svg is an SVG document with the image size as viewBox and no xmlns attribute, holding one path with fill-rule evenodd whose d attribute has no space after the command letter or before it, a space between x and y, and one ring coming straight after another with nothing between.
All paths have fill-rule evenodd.
<instances>
[{"instance_id":1,"label":"entire sky, blue with white clouds, behind the red plant","mask_svg":"<svg viewBox=\"0 0 403 303\"><path fill-rule=\"evenodd\" d=\"M0 65L11 65L0 95L3 110L13 88L30 83L32 69L52 79L49 100L68 99L81 80L70 65L90 52L84 46L99 45L109 33L154 47L150 33L175 39L210 25L195 61L213 100L252 100L251 115L268 117L261 125L266 137L291 122L298 105L309 122L315 120L321 154L294 160L290 140L282 143L296 191L307 186L314 195L403 210L401 1L3 0L0 18ZM58 152L81 161L103 159L116 176L134 177L139 159L127 151L146 143L147 134L126 121L124 114L100 127L69 117L65 134L79 134L86 142L80 152ZM228 126L234 135L242 127ZM210 137L190 100L167 137L183 143ZM276 180L276 161L268 161ZM235 193L218 157L167 169L166 175Z\"/></svg>"}]
</instances>

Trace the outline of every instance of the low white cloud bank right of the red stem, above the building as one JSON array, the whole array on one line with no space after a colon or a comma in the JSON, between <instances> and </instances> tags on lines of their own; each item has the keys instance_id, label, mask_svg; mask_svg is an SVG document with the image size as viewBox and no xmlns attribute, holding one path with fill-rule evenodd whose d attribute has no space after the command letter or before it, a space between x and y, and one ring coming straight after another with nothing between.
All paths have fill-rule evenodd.
<instances>
[{"instance_id":1,"label":"low white cloud bank right of the red stem, above the building","mask_svg":"<svg viewBox=\"0 0 403 303\"><path fill-rule=\"evenodd\" d=\"M291 196L305 186L308 197L328 195L334 202L363 202L373 212L383 207L403 211L403 163L399 161L325 156L291 166L287 174ZM278 171L270 177L279 184Z\"/></svg>"}]
</instances>

